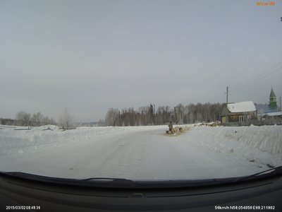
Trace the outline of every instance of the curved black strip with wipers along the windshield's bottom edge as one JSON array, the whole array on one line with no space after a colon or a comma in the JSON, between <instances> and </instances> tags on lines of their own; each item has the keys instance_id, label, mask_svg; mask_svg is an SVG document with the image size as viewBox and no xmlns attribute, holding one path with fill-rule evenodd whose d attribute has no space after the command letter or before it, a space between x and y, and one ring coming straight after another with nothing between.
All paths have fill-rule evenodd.
<instances>
[{"instance_id":1,"label":"curved black strip with wipers along the windshield's bottom edge","mask_svg":"<svg viewBox=\"0 0 282 212\"><path fill-rule=\"evenodd\" d=\"M40 175L32 175L23 172L0 172L0 175L8 175L10 177L17 177L25 180L35 180L37 182L47 182L62 185L73 185L82 187L98 187L98 188L149 188L149 189L166 189L166 188L184 188L184 187L206 187L216 184L230 184L236 182L244 182L252 179L261 179L264 177L282 176L282 166L271 168L258 172L254 175L245 177L230 177L219 179L190 179L190 180L144 180L135 181L123 178L111 177L91 177L87 179L69 179L59 177L45 177Z\"/></svg>"}]
</instances>

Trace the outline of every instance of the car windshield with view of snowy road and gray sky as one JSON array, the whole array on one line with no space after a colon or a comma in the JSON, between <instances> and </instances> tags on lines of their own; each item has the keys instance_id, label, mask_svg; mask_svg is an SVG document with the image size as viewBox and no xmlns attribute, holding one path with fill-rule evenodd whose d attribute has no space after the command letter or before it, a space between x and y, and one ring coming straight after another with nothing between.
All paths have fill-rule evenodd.
<instances>
[{"instance_id":1,"label":"car windshield with view of snowy road and gray sky","mask_svg":"<svg viewBox=\"0 0 282 212\"><path fill-rule=\"evenodd\" d=\"M1 1L0 171L243 177L282 165L281 1Z\"/></svg>"}]
</instances>

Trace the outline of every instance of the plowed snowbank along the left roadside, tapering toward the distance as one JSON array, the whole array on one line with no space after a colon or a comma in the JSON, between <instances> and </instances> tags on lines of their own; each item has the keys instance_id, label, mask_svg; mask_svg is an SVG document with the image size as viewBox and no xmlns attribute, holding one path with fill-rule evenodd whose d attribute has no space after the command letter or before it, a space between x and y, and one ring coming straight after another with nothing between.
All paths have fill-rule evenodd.
<instances>
[{"instance_id":1,"label":"plowed snowbank along the left roadside, tapering toward the distance","mask_svg":"<svg viewBox=\"0 0 282 212\"><path fill-rule=\"evenodd\" d=\"M21 129L21 130L15 130ZM114 127L81 127L61 131L54 125L34 127L24 130L23 127L2 128L0 131L0 155L11 155L35 151L39 148L54 148L77 143L81 140L99 139L101 136L124 131Z\"/></svg>"}]
</instances>

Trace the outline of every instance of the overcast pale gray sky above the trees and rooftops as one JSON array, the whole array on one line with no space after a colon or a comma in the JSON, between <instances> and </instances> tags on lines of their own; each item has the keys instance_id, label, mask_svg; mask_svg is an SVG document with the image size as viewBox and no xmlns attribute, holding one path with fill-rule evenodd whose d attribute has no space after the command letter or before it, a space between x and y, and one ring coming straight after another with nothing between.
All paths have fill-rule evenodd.
<instances>
[{"instance_id":1,"label":"overcast pale gray sky above the trees and rooftops","mask_svg":"<svg viewBox=\"0 0 282 212\"><path fill-rule=\"evenodd\" d=\"M266 1L269 2L269 1ZM282 1L0 1L0 117L282 95Z\"/></svg>"}]
</instances>

